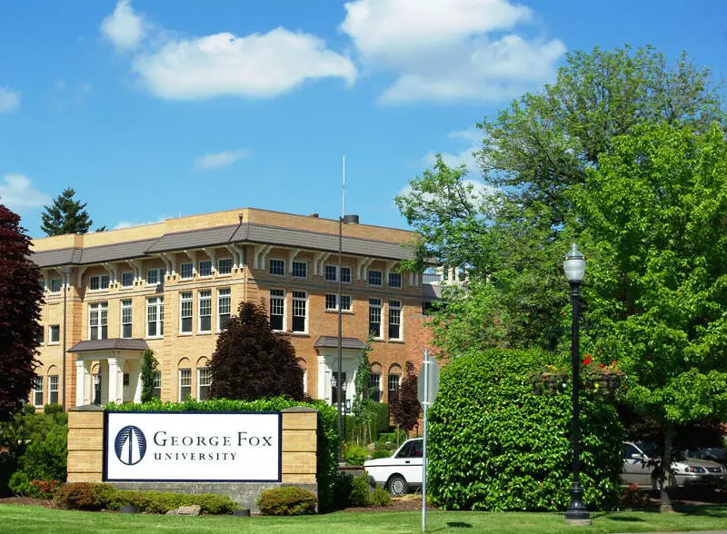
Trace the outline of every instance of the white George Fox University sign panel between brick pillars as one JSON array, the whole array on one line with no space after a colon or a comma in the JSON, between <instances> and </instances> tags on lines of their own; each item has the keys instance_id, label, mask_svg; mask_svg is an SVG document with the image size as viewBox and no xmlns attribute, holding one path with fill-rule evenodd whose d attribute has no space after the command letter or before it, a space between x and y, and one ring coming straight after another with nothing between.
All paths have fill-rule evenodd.
<instances>
[{"instance_id":1,"label":"white George Fox University sign panel between brick pillars","mask_svg":"<svg viewBox=\"0 0 727 534\"><path fill-rule=\"evenodd\" d=\"M280 482L280 412L107 411L104 480Z\"/></svg>"}]
</instances>

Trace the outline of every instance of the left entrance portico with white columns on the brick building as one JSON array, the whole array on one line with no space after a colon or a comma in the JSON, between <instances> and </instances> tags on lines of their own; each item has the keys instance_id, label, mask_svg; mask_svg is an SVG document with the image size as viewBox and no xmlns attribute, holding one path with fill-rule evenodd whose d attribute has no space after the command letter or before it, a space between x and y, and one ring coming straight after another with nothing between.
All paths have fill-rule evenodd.
<instances>
[{"instance_id":1,"label":"left entrance portico with white columns on the brick building","mask_svg":"<svg viewBox=\"0 0 727 534\"><path fill-rule=\"evenodd\" d=\"M80 341L75 360L75 404L141 402L141 366L146 342L139 339Z\"/></svg>"}]
</instances>

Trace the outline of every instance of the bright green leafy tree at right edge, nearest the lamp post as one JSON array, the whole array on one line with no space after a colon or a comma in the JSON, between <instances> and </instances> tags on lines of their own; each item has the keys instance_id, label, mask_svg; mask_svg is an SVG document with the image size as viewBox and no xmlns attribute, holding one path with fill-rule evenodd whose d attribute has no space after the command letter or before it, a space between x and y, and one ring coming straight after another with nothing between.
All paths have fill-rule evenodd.
<instances>
[{"instance_id":1,"label":"bright green leafy tree at right edge, nearest the lamp post","mask_svg":"<svg viewBox=\"0 0 727 534\"><path fill-rule=\"evenodd\" d=\"M719 124L614 137L572 191L598 258L584 300L594 347L631 377L627 400L661 427L727 418L727 142ZM662 503L669 496L662 485Z\"/></svg>"}]
</instances>

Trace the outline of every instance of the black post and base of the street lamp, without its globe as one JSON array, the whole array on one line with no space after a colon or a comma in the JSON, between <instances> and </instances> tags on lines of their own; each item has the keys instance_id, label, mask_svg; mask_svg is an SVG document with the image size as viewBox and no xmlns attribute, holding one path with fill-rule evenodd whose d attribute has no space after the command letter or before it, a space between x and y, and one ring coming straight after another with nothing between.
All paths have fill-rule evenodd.
<instances>
[{"instance_id":1,"label":"black post and base of the street lamp, without its globe","mask_svg":"<svg viewBox=\"0 0 727 534\"><path fill-rule=\"evenodd\" d=\"M580 312L580 296L581 286L578 282L571 283L571 302L573 307L573 324L571 325L571 363L573 365L573 484L571 486L571 504L565 510L565 520L569 522L577 522L587 524L591 523L588 510L583 504L583 488L581 488L581 464L579 460L580 444L579 444L579 405L578 393L581 390L581 353L579 339L579 312Z\"/></svg>"}]
</instances>

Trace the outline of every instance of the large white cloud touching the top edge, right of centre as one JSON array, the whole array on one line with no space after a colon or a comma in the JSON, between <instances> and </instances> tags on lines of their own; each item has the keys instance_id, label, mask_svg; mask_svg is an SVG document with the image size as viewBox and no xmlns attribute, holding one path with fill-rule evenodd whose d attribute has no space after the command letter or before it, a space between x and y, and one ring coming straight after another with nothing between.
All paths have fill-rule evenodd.
<instances>
[{"instance_id":1,"label":"large white cloud touching the top edge, right of centre","mask_svg":"<svg viewBox=\"0 0 727 534\"><path fill-rule=\"evenodd\" d=\"M364 63L396 75L384 104L497 101L555 74L557 39L513 33L533 12L508 0L354 0L342 30Z\"/></svg>"}]
</instances>

